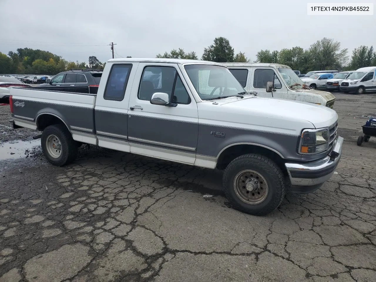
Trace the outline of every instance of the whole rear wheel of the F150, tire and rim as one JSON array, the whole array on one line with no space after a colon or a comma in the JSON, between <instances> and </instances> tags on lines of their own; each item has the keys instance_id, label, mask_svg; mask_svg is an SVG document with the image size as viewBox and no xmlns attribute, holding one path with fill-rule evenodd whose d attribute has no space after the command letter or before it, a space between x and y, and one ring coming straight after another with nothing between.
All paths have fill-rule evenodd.
<instances>
[{"instance_id":1,"label":"whole rear wheel of the F150, tire and rim","mask_svg":"<svg viewBox=\"0 0 376 282\"><path fill-rule=\"evenodd\" d=\"M64 124L47 126L42 132L41 146L47 160L59 167L70 164L77 156L77 143Z\"/></svg>"}]
</instances>

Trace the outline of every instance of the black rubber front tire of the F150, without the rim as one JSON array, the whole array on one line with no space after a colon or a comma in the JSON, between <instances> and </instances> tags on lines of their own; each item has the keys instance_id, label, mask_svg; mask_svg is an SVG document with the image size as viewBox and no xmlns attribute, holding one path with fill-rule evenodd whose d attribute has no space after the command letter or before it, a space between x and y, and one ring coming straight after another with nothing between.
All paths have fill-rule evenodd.
<instances>
[{"instance_id":1,"label":"black rubber front tire of the F150, without the rim","mask_svg":"<svg viewBox=\"0 0 376 282\"><path fill-rule=\"evenodd\" d=\"M241 190L240 187L235 188L235 177L244 170L255 171L265 179L268 193L262 202L256 204L246 203L235 192L236 190ZM241 177L238 177L238 179L241 179ZM252 215L266 215L274 211L282 203L286 193L285 176L281 169L271 159L257 154L243 155L230 162L223 174L223 187L226 197L233 208ZM242 188L245 188L245 186ZM247 188L243 191L245 193L256 192L247 192Z\"/></svg>"}]
</instances>

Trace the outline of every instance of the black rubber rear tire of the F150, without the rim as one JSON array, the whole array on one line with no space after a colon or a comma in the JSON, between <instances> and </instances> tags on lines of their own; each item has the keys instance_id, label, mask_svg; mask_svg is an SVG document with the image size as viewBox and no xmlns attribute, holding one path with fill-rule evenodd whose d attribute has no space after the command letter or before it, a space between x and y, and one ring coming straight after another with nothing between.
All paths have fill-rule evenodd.
<instances>
[{"instance_id":1,"label":"black rubber rear tire of the F150, without the rim","mask_svg":"<svg viewBox=\"0 0 376 282\"><path fill-rule=\"evenodd\" d=\"M47 138L55 135L61 144L60 156L55 158L47 149ZM64 124L54 124L47 126L42 132L41 146L47 160L58 167L70 164L77 157L77 142L73 140L71 133Z\"/></svg>"}]
</instances>

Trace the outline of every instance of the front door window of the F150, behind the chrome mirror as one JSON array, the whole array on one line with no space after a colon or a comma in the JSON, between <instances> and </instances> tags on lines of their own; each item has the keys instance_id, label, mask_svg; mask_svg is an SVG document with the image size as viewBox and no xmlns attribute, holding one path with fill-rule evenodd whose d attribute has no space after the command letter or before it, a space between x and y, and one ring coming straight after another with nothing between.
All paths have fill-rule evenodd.
<instances>
[{"instance_id":1,"label":"front door window of the F150, behind the chrome mirror","mask_svg":"<svg viewBox=\"0 0 376 282\"><path fill-rule=\"evenodd\" d=\"M174 67L144 68L138 89L138 99L150 101L155 92L167 93L171 103L191 103L189 94Z\"/></svg>"}]
</instances>

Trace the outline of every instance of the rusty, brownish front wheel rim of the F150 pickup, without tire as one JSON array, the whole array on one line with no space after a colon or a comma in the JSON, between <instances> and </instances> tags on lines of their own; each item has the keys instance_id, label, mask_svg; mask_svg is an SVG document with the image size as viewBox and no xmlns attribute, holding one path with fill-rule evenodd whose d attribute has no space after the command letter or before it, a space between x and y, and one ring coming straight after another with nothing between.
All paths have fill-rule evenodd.
<instances>
[{"instance_id":1,"label":"rusty, brownish front wheel rim of the F150 pickup, without tire","mask_svg":"<svg viewBox=\"0 0 376 282\"><path fill-rule=\"evenodd\" d=\"M238 198L249 205L262 203L268 196L265 177L254 170L240 171L234 178L233 186Z\"/></svg>"}]
</instances>

